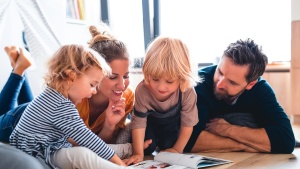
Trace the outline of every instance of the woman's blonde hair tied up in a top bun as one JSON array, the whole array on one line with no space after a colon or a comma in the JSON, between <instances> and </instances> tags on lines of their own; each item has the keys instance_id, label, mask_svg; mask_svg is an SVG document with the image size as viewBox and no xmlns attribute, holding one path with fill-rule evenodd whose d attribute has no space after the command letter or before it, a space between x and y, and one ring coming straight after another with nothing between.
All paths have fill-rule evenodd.
<instances>
[{"instance_id":1,"label":"woman's blonde hair tied up in a top bun","mask_svg":"<svg viewBox=\"0 0 300 169\"><path fill-rule=\"evenodd\" d=\"M122 41L109 32L100 32L96 26L90 26L89 30L92 36L89 46L101 54L107 63L115 59L129 60L126 45Z\"/></svg>"}]
</instances>

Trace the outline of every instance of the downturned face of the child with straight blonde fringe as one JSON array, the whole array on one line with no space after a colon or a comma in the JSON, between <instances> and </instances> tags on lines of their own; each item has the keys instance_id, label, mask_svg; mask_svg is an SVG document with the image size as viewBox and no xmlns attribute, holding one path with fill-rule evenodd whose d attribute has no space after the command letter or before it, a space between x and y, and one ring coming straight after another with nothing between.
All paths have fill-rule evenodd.
<instances>
[{"instance_id":1,"label":"downturned face of the child with straight blonde fringe","mask_svg":"<svg viewBox=\"0 0 300 169\"><path fill-rule=\"evenodd\" d=\"M159 101L164 101L178 89L179 78L170 79L167 76L162 76L161 78L150 77L149 86L153 96Z\"/></svg>"}]
</instances>

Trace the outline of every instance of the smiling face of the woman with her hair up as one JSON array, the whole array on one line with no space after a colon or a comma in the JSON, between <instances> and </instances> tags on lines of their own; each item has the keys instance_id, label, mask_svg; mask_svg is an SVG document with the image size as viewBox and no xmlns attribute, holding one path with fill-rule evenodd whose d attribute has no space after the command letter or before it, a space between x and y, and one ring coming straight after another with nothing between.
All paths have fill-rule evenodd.
<instances>
[{"instance_id":1,"label":"smiling face of the woman with her hair up","mask_svg":"<svg viewBox=\"0 0 300 169\"><path fill-rule=\"evenodd\" d=\"M109 63L112 69L110 77L103 77L98 93L112 101L120 100L129 85L129 60L116 59Z\"/></svg>"}]
</instances>

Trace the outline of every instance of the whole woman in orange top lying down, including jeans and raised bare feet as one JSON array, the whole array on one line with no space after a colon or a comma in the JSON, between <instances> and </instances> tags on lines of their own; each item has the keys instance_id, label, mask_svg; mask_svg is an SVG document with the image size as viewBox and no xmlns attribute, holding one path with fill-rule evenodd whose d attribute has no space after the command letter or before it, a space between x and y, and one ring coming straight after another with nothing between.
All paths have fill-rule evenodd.
<instances>
[{"instance_id":1,"label":"whole woman in orange top lying down, including jeans and raised bare feet","mask_svg":"<svg viewBox=\"0 0 300 169\"><path fill-rule=\"evenodd\" d=\"M97 94L89 99L83 99L77 106L77 109L88 128L101 137L106 143L114 144L117 141L118 133L125 127L126 117L133 107L134 94L132 90L128 88L129 55L125 44L116 40L113 36L106 33L100 33L95 26L90 27L90 32L92 35L92 39L89 42L90 47L99 52L105 58L107 63L109 63L112 68L112 76L105 77L102 80L100 87L97 89ZM18 89L13 89L12 85L7 83L0 94L0 109L4 110L3 107L6 107L5 111L0 114L0 141L4 142L8 142L13 128L16 126L21 114L27 106L26 101L30 102L33 99L32 92L27 82L28 79L24 73L31 65L28 64L28 61L30 60L28 59L29 54L24 54L23 51L25 50L21 49L20 53L18 53L14 47L6 48L6 52L9 55L13 66L11 76L13 76L14 79L16 79L15 66L23 63L24 60L26 60L25 63L27 63L27 66L22 66L22 73L18 74L18 78L22 80L13 82L18 84L16 87ZM7 94L7 92L12 94ZM21 95L21 93L23 94ZM3 100L6 100L10 105L14 106L17 100L19 100L20 97L24 97L24 95L29 99L27 99L25 103L23 102L22 109L19 109L19 107L18 109L13 108L12 106L7 108L7 104L2 104L4 103ZM108 109L111 109L112 111L107 111ZM128 139L129 138L126 136L125 139L119 139L118 143L127 143ZM71 139L69 139L69 141L72 142ZM72 143L75 144L74 142ZM145 146L147 145L145 144ZM112 146L112 148L121 158L131 155L132 148L129 143L117 147ZM118 152L123 153L120 154Z\"/></svg>"}]
</instances>

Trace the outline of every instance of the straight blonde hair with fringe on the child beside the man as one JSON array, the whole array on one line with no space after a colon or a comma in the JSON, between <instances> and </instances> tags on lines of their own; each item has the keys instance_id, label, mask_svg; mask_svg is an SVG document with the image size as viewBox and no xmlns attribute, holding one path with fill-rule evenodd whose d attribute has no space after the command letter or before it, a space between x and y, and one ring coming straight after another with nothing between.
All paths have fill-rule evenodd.
<instances>
[{"instance_id":1,"label":"straight blonde hair with fringe on the child beside the man","mask_svg":"<svg viewBox=\"0 0 300 169\"><path fill-rule=\"evenodd\" d=\"M180 39L170 37L157 37L150 43L142 68L145 83L149 83L150 77L167 75L179 78L182 92L198 81L191 69L187 46Z\"/></svg>"}]
</instances>

